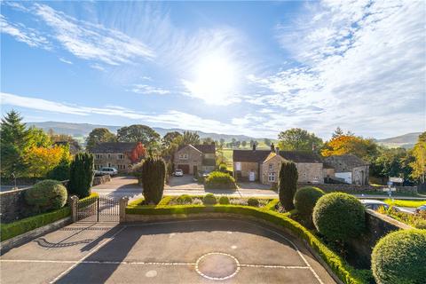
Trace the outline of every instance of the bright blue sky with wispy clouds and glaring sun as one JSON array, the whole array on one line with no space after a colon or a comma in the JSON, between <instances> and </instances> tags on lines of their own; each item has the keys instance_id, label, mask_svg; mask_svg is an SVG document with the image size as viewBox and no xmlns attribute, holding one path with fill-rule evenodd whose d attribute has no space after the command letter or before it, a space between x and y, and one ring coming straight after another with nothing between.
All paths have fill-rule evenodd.
<instances>
[{"instance_id":1,"label":"bright blue sky with wispy clouds and glaring sun","mask_svg":"<svg viewBox=\"0 0 426 284\"><path fill-rule=\"evenodd\" d=\"M426 4L2 2L2 114L276 138L426 128Z\"/></svg>"}]
</instances>

